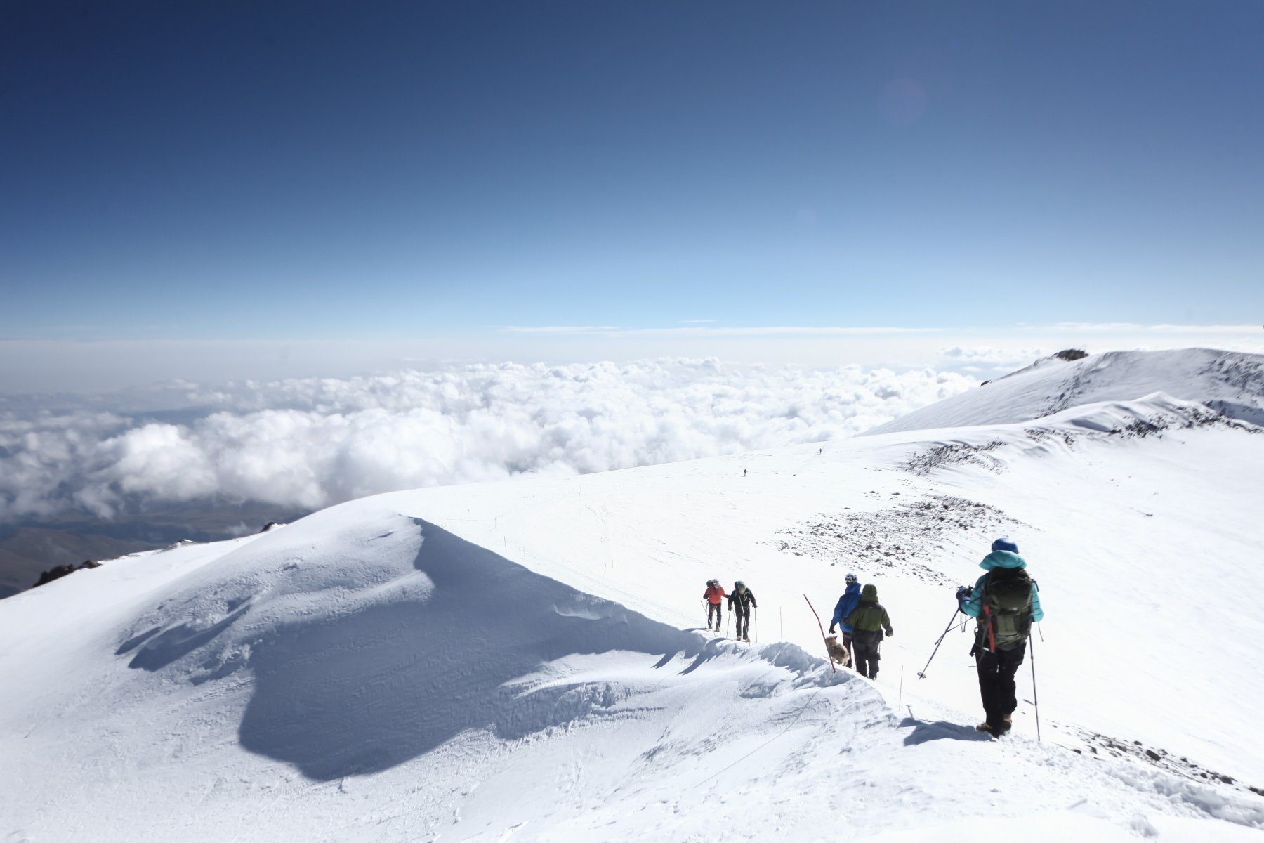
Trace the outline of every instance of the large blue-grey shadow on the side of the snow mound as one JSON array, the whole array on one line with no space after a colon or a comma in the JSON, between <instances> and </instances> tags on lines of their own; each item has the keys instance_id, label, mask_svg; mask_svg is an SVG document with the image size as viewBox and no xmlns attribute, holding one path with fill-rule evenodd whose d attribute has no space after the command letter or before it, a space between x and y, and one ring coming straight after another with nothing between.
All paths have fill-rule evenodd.
<instances>
[{"instance_id":1,"label":"large blue-grey shadow on the side of the snow mound","mask_svg":"<svg viewBox=\"0 0 1264 843\"><path fill-rule=\"evenodd\" d=\"M246 666L254 693L244 748L327 781L387 770L466 729L517 738L623 699L612 682L512 682L570 655L640 652L655 667L683 653L719 651L691 632L535 574L434 525L413 562L432 583L423 599L273 628L246 656L206 681ZM236 607L234 607L236 608ZM243 609L210 628L149 629L119 648L130 666L159 670L228 629Z\"/></svg>"}]
</instances>

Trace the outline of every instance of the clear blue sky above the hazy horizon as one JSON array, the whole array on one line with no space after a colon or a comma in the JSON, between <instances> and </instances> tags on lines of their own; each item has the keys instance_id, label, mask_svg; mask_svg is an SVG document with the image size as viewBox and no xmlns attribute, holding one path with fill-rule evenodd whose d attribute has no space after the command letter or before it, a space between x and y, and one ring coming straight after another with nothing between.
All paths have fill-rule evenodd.
<instances>
[{"instance_id":1,"label":"clear blue sky above the hazy horizon","mask_svg":"<svg viewBox=\"0 0 1264 843\"><path fill-rule=\"evenodd\" d=\"M0 337L1256 324L1264 4L0 4Z\"/></svg>"}]
</instances>

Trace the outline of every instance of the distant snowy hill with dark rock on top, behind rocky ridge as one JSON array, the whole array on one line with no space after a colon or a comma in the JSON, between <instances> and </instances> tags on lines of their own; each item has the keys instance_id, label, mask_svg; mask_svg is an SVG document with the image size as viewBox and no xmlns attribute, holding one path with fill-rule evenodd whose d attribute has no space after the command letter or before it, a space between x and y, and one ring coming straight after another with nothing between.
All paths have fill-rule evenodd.
<instances>
[{"instance_id":1,"label":"distant snowy hill with dark rock on top, behind rocky ridge","mask_svg":"<svg viewBox=\"0 0 1264 843\"><path fill-rule=\"evenodd\" d=\"M1107 351L1079 360L1044 358L978 389L880 425L866 435L906 430L1007 425L1098 401L1165 392L1264 425L1264 355L1184 349Z\"/></svg>"}]
</instances>

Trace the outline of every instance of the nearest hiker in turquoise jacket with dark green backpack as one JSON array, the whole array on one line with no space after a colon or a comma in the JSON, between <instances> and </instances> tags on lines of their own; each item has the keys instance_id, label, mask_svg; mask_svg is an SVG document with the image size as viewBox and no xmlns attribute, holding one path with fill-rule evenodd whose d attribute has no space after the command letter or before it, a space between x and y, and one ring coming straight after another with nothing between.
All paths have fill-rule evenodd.
<instances>
[{"instance_id":1,"label":"nearest hiker in turquoise jacket with dark green backpack","mask_svg":"<svg viewBox=\"0 0 1264 843\"><path fill-rule=\"evenodd\" d=\"M1026 653L1031 623L1044 618L1040 586L1026 571L1026 560L1007 536L992 542L992 552L978 564L986 571L975 588L957 589L962 612L978 619L975 629L975 657L978 669L978 694L986 719L981 732L1000 737L1010 731L1018 708L1014 674Z\"/></svg>"}]
</instances>

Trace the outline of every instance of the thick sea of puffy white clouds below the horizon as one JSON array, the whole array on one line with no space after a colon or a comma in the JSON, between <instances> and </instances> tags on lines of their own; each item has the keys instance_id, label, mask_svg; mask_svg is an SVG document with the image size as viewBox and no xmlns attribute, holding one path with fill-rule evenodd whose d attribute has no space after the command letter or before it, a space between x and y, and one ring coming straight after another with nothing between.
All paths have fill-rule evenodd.
<instances>
[{"instance_id":1,"label":"thick sea of puffy white clouds below the horizon","mask_svg":"<svg viewBox=\"0 0 1264 843\"><path fill-rule=\"evenodd\" d=\"M978 380L892 372L477 364L358 378L177 384L0 409L0 522L210 498L317 509L380 492L574 475L843 439ZM154 393L155 396L158 393ZM172 388L163 393L171 403Z\"/></svg>"}]
</instances>

